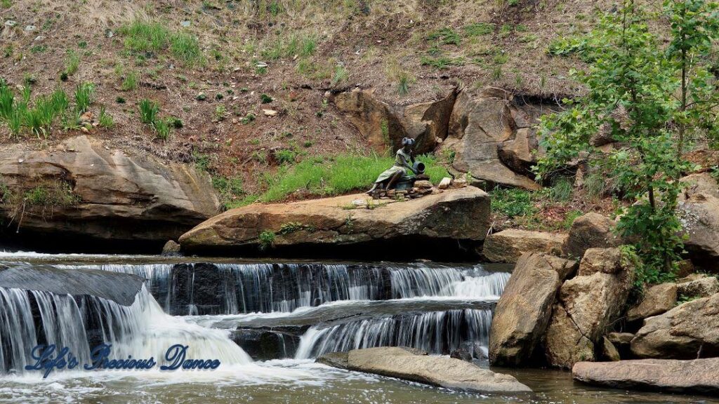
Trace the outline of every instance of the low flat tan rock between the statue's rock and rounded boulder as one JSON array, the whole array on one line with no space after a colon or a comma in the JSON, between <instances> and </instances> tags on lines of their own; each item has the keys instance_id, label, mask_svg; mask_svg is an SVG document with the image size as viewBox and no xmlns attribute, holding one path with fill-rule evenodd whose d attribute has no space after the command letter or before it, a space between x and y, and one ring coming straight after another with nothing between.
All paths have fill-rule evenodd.
<instances>
[{"instance_id":1,"label":"low flat tan rock between the statue's rock and rounded boulder","mask_svg":"<svg viewBox=\"0 0 719 404\"><path fill-rule=\"evenodd\" d=\"M561 252L567 234L508 229L487 236L482 254L490 262L517 262L526 252Z\"/></svg>"}]
</instances>

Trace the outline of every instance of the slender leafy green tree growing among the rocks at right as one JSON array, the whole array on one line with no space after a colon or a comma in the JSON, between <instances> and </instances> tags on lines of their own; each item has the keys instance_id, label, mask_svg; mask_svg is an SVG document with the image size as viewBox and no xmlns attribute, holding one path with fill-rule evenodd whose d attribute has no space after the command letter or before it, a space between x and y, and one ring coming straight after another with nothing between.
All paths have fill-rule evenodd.
<instances>
[{"instance_id":1,"label":"slender leafy green tree growing among the rocks at right","mask_svg":"<svg viewBox=\"0 0 719 404\"><path fill-rule=\"evenodd\" d=\"M573 75L587 94L564 100L565 111L541 122L546 155L535 167L538 180L585 155L614 178L622 196L634 202L617 230L635 241L645 280L672 276L682 252L677 196L679 178L692 169L682 159L688 135L716 133L710 74L711 40L719 32L715 9L705 0L667 0L664 15L655 15L625 0L581 42L589 68ZM664 49L648 25L657 18L671 24ZM608 153L592 147L600 133L618 146Z\"/></svg>"}]
</instances>

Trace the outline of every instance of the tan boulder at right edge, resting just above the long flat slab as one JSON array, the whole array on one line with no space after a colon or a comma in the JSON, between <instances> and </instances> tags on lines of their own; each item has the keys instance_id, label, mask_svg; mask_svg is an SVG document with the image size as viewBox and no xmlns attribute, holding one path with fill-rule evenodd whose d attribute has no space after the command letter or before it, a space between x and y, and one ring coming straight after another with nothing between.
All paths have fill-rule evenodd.
<instances>
[{"instance_id":1,"label":"tan boulder at right edge, resting just above the long flat slab","mask_svg":"<svg viewBox=\"0 0 719 404\"><path fill-rule=\"evenodd\" d=\"M695 359L719 354L719 293L649 317L631 341L642 358Z\"/></svg>"}]
</instances>

